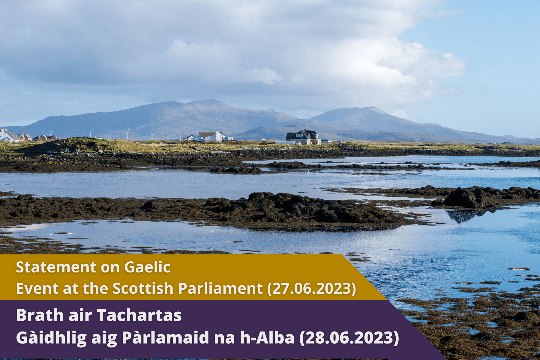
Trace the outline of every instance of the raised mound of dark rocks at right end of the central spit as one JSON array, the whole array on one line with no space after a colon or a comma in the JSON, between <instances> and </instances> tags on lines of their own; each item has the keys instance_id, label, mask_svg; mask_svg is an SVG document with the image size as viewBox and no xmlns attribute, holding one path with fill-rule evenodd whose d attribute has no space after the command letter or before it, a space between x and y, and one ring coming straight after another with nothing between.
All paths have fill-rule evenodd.
<instances>
[{"instance_id":1,"label":"raised mound of dark rocks at right end of the central spit","mask_svg":"<svg viewBox=\"0 0 540 360\"><path fill-rule=\"evenodd\" d=\"M212 198L208 199L204 206L214 213L227 213L222 216L222 221L403 223L396 215L372 205L286 193L252 193L248 199L239 200Z\"/></svg>"}]
</instances>

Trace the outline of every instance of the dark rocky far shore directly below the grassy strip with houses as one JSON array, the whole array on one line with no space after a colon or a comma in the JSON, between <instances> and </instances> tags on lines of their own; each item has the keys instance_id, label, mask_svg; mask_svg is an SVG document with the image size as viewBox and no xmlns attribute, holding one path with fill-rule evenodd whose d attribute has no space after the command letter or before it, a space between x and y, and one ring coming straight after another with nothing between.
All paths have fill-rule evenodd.
<instances>
[{"instance_id":1,"label":"dark rocky far shore directly below the grassy strip with houses","mask_svg":"<svg viewBox=\"0 0 540 360\"><path fill-rule=\"evenodd\" d=\"M31 153L25 152L18 155L0 155L0 172L30 172L30 173L51 173L51 172L87 172L87 171L123 171L125 169L144 169L146 166L167 166L181 168L202 167L262 167L261 164L246 165L244 161L257 160L285 160L285 159L342 159L346 157L389 157L404 155L491 155L491 156L535 156L535 151L525 151L510 153L508 151L490 151L489 154L471 150L432 150L432 149L407 149L396 151L369 150L361 147L342 146L339 150L325 150L316 148L258 148L242 149L234 151L194 151L176 153ZM535 162L535 164L538 161ZM532 163L532 162L531 162ZM422 164L404 164L405 166L380 165L305 165L296 162L290 165L288 162L275 162L267 165L274 168L366 168L366 169L447 169L440 166L424 166ZM328 163L330 164L330 163ZM491 164L494 166L537 166L519 165L521 162L505 162L505 165ZM508 164L508 165L506 165ZM484 164L481 164L484 165ZM311 167L309 167L311 166ZM356 167L354 167L356 166ZM266 167L266 166L265 166ZM223 171L220 171L223 172ZM228 172L228 171L225 171ZM252 172L253 173L253 172Z\"/></svg>"}]
</instances>

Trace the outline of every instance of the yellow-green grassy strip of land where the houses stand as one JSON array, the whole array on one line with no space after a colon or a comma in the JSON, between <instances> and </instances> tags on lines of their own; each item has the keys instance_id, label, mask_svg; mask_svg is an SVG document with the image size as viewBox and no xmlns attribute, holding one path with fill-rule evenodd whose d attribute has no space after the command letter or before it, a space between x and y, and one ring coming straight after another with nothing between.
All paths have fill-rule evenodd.
<instances>
[{"instance_id":1,"label":"yellow-green grassy strip of land where the houses stand","mask_svg":"<svg viewBox=\"0 0 540 360\"><path fill-rule=\"evenodd\" d=\"M137 152L137 153L164 153L164 152L212 152L212 151L232 151L241 150L242 148L317 148L317 149L352 149L352 148L368 148L369 150L378 151L396 151L408 149L436 149L436 150L540 150L538 145L498 145L498 144L456 144L456 143L427 143L413 141L349 141L349 142L332 142L331 144L323 145L283 145L271 144L268 142L237 142L232 141L227 144L188 144L187 142L180 144L179 142L167 141L127 141L127 140L105 140L92 138L68 138L56 141L32 141L29 144L24 143L5 143L0 144L0 154L24 154L24 153L47 153L67 151L67 152L89 152L94 153L102 150L104 153L122 153L122 152Z\"/></svg>"}]
</instances>

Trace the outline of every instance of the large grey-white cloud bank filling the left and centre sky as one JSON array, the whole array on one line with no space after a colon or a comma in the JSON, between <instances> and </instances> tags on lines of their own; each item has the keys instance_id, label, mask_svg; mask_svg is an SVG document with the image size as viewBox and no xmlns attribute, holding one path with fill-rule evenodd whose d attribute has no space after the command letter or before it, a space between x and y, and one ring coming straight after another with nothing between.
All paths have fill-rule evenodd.
<instances>
[{"instance_id":1,"label":"large grey-white cloud bank filling the left and centre sky","mask_svg":"<svg viewBox=\"0 0 540 360\"><path fill-rule=\"evenodd\" d=\"M4 2L0 74L78 99L392 111L451 94L445 81L464 74L455 56L398 37L442 12L435 0Z\"/></svg>"}]
</instances>

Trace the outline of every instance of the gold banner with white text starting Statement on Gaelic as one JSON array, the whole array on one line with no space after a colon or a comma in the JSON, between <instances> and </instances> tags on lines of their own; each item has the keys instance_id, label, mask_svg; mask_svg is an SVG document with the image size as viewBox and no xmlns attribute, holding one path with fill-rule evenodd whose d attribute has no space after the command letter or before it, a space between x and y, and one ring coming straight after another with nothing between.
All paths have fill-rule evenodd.
<instances>
[{"instance_id":1,"label":"gold banner with white text starting Statement on Gaelic","mask_svg":"<svg viewBox=\"0 0 540 360\"><path fill-rule=\"evenodd\" d=\"M1 256L1 300L386 300L342 255Z\"/></svg>"}]
</instances>

